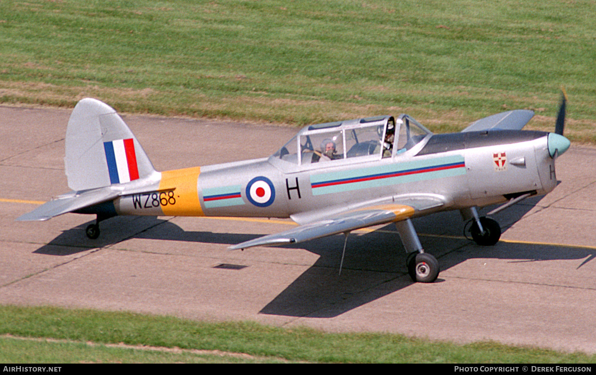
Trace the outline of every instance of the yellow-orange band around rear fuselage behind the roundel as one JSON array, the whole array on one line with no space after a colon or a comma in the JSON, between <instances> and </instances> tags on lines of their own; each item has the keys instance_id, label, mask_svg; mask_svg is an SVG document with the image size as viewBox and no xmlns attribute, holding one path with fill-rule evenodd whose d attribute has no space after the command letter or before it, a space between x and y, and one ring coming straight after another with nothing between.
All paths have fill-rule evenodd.
<instances>
[{"instance_id":1,"label":"yellow-orange band around rear fuselage behind the roundel","mask_svg":"<svg viewBox=\"0 0 596 375\"><path fill-rule=\"evenodd\" d=\"M162 181L159 183L159 190L172 191L172 197L175 199L174 204L162 206L164 215L204 216L201 203L198 200L197 191L197 180L200 173L200 167L162 172ZM166 197L166 199L168 198Z\"/></svg>"}]
</instances>

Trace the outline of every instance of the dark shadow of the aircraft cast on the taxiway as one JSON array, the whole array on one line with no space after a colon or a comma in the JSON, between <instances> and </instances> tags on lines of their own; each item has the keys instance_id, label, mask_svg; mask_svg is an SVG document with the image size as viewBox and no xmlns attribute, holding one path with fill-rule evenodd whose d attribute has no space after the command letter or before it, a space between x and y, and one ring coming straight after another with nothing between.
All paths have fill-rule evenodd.
<instances>
[{"instance_id":1,"label":"dark shadow of the aircraft cast on the taxiway","mask_svg":"<svg viewBox=\"0 0 596 375\"><path fill-rule=\"evenodd\" d=\"M522 218L538 200L527 199L524 204L517 204L505 210L506 213L495 215L502 225L502 231ZM483 211L488 212L490 209ZM128 238L236 244L264 235L184 231L164 219L123 216L103 222L100 238L88 240L85 228L92 222L64 231L35 253L64 256L109 246ZM582 247L505 242L492 247L477 246L463 237L464 222L457 211L414 219L414 227L424 249L436 256L442 271L472 258L510 259L511 262L586 258L581 267L596 257L596 250ZM405 264L406 254L395 226L387 225L366 234L350 234L342 274L339 275L343 240L343 235L339 234L285 246L308 250L319 258L263 307L260 313L291 317L336 317L412 284ZM436 282L443 281L439 274Z\"/></svg>"}]
</instances>

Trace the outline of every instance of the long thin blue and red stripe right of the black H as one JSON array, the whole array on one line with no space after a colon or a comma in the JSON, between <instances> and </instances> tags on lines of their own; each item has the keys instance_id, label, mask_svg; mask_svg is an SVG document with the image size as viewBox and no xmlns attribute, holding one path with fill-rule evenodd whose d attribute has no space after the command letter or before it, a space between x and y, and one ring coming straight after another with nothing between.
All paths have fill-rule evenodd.
<instances>
[{"instance_id":1,"label":"long thin blue and red stripe right of the black H","mask_svg":"<svg viewBox=\"0 0 596 375\"><path fill-rule=\"evenodd\" d=\"M465 168L465 163L463 160L461 160L461 161L458 160L457 162L452 162L452 163L442 163L440 165L431 165L431 166L423 166L423 167L419 167L419 168L401 169L398 171L371 173L368 175L361 175L361 176L355 176L355 177L349 177L349 178L327 179L325 181L311 182L311 187L313 189L332 187L332 186L339 187L339 185L354 184L356 182L383 180L383 179L396 178L396 177L401 177L401 176L413 176L414 177L416 175L421 175L423 173L449 171L452 169L459 169L459 168ZM465 171L465 169L463 171ZM432 173L432 174L436 177L443 176L443 175L436 175L436 173Z\"/></svg>"}]
</instances>

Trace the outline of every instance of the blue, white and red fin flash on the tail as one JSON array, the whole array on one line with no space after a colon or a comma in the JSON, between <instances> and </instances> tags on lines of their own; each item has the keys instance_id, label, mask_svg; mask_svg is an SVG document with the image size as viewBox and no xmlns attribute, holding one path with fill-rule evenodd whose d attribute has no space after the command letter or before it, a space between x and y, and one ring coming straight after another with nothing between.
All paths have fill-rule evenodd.
<instances>
[{"instance_id":1,"label":"blue, white and red fin flash on the tail","mask_svg":"<svg viewBox=\"0 0 596 375\"><path fill-rule=\"evenodd\" d=\"M123 184L139 178L132 138L104 142L104 150L111 184Z\"/></svg>"}]
</instances>

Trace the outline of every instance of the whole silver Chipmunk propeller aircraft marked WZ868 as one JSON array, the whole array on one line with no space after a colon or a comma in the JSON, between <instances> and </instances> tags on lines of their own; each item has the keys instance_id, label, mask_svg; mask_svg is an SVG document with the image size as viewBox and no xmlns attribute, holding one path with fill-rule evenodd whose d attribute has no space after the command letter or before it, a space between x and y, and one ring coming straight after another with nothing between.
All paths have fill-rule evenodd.
<instances>
[{"instance_id":1,"label":"whole silver Chipmunk propeller aircraft marked WZ868","mask_svg":"<svg viewBox=\"0 0 596 375\"><path fill-rule=\"evenodd\" d=\"M439 262L411 219L460 210L477 244L495 244L501 228L477 207L504 203L490 215L554 189L555 159L570 145L565 106L563 93L554 133L522 131L531 110L493 114L454 134L433 134L407 114L379 116L306 126L263 159L157 172L116 111L86 98L66 131L73 191L18 220L97 215L86 229L97 238L100 221L116 215L291 218L299 226L229 248L343 233L344 253L350 231L395 222L412 280L432 283Z\"/></svg>"}]
</instances>

